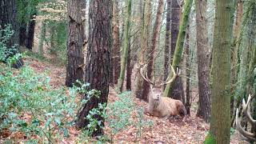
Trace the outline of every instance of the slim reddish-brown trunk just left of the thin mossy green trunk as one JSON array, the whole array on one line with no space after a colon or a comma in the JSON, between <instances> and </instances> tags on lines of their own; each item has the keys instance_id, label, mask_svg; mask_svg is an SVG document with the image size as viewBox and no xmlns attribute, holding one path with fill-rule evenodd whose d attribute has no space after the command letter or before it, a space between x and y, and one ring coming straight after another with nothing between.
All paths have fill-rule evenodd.
<instances>
[{"instance_id":1,"label":"slim reddish-brown trunk just left of the thin mossy green trunk","mask_svg":"<svg viewBox=\"0 0 256 144\"><path fill-rule=\"evenodd\" d=\"M113 66L114 66L114 84L118 83L118 77L120 75L120 41L119 41L119 9L118 0L114 0L113 3Z\"/></svg>"}]
</instances>

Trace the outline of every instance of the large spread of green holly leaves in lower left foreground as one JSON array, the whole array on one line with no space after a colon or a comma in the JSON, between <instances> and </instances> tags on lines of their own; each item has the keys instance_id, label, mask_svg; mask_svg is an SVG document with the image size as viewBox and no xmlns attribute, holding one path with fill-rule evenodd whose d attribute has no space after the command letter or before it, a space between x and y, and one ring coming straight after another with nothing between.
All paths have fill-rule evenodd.
<instances>
[{"instance_id":1,"label":"large spread of green holly leaves in lower left foreground","mask_svg":"<svg viewBox=\"0 0 256 144\"><path fill-rule=\"evenodd\" d=\"M54 142L69 136L78 108L94 96L88 84L70 90L53 90L46 74L36 74L28 66L13 73L10 67L0 67L0 133L2 130L22 132L29 139ZM68 92L68 94L67 94ZM78 93L88 97L77 102Z\"/></svg>"}]
</instances>

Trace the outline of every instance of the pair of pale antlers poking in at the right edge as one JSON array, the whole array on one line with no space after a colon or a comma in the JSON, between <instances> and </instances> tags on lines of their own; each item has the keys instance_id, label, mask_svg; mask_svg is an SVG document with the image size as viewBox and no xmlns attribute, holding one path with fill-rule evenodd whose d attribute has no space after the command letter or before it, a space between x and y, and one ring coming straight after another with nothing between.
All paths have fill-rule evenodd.
<instances>
[{"instance_id":1,"label":"pair of pale antlers poking in at the right edge","mask_svg":"<svg viewBox=\"0 0 256 144\"><path fill-rule=\"evenodd\" d=\"M246 117L249 119L249 122L250 122L251 126L255 127L256 126L256 120L254 118L252 118L252 116L250 114L250 99L251 99L250 94L249 94L247 102L245 101L244 98L242 99L242 111L244 112ZM248 131L246 131L242 128L242 126L239 122L238 114L239 114L239 110L237 109L236 116L235 116L235 123L236 123L238 131L240 132L240 134L242 134L243 137L246 138L247 141L256 142L256 134L255 133L250 133L250 132L248 132Z\"/></svg>"}]
</instances>

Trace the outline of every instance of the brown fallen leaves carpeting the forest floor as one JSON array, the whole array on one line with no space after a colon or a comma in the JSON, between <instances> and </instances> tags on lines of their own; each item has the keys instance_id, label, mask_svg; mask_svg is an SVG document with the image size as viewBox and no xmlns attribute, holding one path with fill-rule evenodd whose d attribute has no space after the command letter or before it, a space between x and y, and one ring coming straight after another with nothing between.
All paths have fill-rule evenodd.
<instances>
[{"instance_id":1,"label":"brown fallen leaves carpeting the forest floor","mask_svg":"<svg viewBox=\"0 0 256 144\"><path fill-rule=\"evenodd\" d=\"M65 67L56 66L49 62L41 62L35 58L26 58L26 64L31 66L38 74L46 70L50 76L50 85L54 88L64 86L65 84ZM194 91L193 97L197 92ZM113 88L110 88L110 95L108 102L114 102L117 99L117 94ZM194 100L196 101L196 100ZM147 103L134 98L134 103L138 106L146 107ZM126 130L119 131L118 134L113 135L114 143L202 143L206 138L209 124L203 122L201 118L195 116L196 102L192 103L190 116L185 118L170 118L169 120L162 120L144 114L144 118L150 119L154 122L153 126L142 129L142 136L138 138L138 129L135 126L129 126ZM132 114L132 118L136 122L136 112ZM106 124L107 126L107 124ZM66 138L62 143L76 143L79 130L72 129L70 138ZM105 133L109 134L109 128L106 128ZM231 143L244 143L239 140L238 133L235 132L231 136Z\"/></svg>"}]
</instances>

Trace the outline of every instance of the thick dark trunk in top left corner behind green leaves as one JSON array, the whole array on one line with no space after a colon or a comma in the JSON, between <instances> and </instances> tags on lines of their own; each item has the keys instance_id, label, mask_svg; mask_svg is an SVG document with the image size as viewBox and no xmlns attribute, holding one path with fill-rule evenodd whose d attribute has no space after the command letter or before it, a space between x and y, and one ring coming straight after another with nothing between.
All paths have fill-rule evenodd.
<instances>
[{"instance_id":1,"label":"thick dark trunk in top left corner behind green leaves","mask_svg":"<svg viewBox=\"0 0 256 144\"><path fill-rule=\"evenodd\" d=\"M14 45L18 45L19 40L19 30L18 30L18 20L17 20L17 3L16 0L2 0L0 2L0 28L6 29L6 25L10 24L12 30L14 30L13 36L10 38L9 42L6 43L8 48L12 48ZM13 56L17 53L19 47L16 47L16 50L12 50ZM19 59L18 62L14 63L14 68L20 68L23 66L22 59Z\"/></svg>"}]
</instances>

